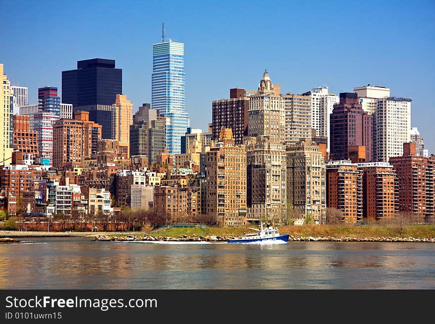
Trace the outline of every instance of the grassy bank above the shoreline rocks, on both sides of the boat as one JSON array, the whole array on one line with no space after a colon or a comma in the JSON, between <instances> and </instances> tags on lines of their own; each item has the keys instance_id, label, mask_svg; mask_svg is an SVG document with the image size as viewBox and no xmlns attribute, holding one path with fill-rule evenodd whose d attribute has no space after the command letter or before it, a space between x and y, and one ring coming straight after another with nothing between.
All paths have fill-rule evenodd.
<instances>
[{"instance_id":1,"label":"grassy bank above the shoreline rocks, on both sides of the boat","mask_svg":"<svg viewBox=\"0 0 435 324\"><path fill-rule=\"evenodd\" d=\"M253 226L254 227L254 226ZM149 232L153 236L240 236L246 233L253 233L248 227L173 227L160 228ZM435 225L362 225L362 226L339 226L339 225L302 225L302 226L282 226L279 227L281 234L292 236L331 236L331 237L422 237L434 238Z\"/></svg>"}]
</instances>

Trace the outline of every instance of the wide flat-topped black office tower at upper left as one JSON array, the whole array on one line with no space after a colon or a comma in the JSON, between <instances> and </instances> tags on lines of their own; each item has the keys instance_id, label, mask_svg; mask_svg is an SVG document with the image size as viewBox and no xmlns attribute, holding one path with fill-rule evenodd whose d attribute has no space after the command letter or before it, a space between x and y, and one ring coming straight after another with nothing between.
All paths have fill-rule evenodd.
<instances>
[{"instance_id":1,"label":"wide flat-topped black office tower at upper left","mask_svg":"<svg viewBox=\"0 0 435 324\"><path fill-rule=\"evenodd\" d=\"M89 111L89 120L102 126L103 139L111 138L111 107L122 93L122 69L115 69L115 60L77 61L77 70L62 71L62 103Z\"/></svg>"}]
</instances>

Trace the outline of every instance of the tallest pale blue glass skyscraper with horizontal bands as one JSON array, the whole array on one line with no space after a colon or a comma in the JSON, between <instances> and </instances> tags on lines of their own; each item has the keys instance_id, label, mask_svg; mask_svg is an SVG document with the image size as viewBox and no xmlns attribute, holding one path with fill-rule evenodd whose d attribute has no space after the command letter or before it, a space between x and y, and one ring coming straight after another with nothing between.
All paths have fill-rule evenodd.
<instances>
[{"instance_id":1,"label":"tallest pale blue glass skyscraper with horizontal bands","mask_svg":"<svg viewBox=\"0 0 435 324\"><path fill-rule=\"evenodd\" d=\"M169 40L153 44L151 108L165 116L168 153L180 153L181 136L189 126L185 111L183 43Z\"/></svg>"}]
</instances>

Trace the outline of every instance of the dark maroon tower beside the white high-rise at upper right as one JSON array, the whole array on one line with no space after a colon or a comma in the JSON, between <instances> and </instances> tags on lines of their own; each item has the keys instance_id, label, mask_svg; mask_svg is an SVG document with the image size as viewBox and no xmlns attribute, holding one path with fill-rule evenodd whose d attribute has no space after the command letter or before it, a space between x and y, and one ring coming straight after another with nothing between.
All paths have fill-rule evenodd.
<instances>
[{"instance_id":1,"label":"dark maroon tower beside the white high-rise at upper right","mask_svg":"<svg viewBox=\"0 0 435 324\"><path fill-rule=\"evenodd\" d=\"M372 115L362 110L356 93L340 93L340 104L334 105L330 119L331 160L346 160L349 146L364 145L366 161L371 161Z\"/></svg>"}]
</instances>

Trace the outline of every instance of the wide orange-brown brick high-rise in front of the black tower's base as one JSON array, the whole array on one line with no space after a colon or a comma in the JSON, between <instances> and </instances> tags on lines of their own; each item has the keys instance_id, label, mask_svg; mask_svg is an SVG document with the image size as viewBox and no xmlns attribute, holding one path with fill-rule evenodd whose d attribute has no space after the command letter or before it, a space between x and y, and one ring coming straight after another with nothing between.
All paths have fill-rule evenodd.
<instances>
[{"instance_id":1,"label":"wide orange-brown brick high-rise in front of the black tower's base","mask_svg":"<svg viewBox=\"0 0 435 324\"><path fill-rule=\"evenodd\" d=\"M57 169L82 167L101 140L101 125L89 121L88 111L76 111L74 118L53 125L53 166Z\"/></svg>"}]
</instances>

